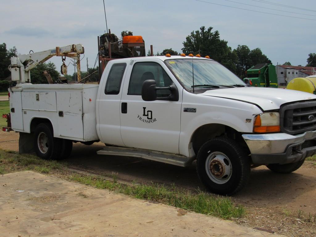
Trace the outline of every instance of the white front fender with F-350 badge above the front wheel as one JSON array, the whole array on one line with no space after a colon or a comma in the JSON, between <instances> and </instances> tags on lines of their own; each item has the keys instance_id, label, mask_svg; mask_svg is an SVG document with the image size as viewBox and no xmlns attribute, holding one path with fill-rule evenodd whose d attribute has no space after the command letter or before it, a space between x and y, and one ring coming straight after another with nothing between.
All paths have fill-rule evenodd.
<instances>
[{"instance_id":1,"label":"white front fender with F-350 badge above the front wheel","mask_svg":"<svg viewBox=\"0 0 316 237\"><path fill-rule=\"evenodd\" d=\"M189 143L199 127L207 124L221 124L239 132L252 133L254 117L262 112L257 106L238 100L205 97L191 93L187 100L185 97L184 95L179 139L179 153L185 156L190 156ZM194 101L194 103L186 101ZM196 108L196 112L184 112L187 111L184 108Z\"/></svg>"}]
</instances>

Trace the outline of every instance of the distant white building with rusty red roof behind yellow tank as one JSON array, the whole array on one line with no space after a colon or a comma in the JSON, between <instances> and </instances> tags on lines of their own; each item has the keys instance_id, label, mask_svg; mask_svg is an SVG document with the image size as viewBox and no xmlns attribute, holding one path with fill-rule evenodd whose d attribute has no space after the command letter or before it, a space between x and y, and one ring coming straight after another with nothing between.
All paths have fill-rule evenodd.
<instances>
[{"instance_id":1,"label":"distant white building with rusty red roof behind yellow tank","mask_svg":"<svg viewBox=\"0 0 316 237\"><path fill-rule=\"evenodd\" d=\"M287 86L287 84L296 77L307 77L312 75L313 67L277 65L276 75L279 86Z\"/></svg>"}]
</instances>

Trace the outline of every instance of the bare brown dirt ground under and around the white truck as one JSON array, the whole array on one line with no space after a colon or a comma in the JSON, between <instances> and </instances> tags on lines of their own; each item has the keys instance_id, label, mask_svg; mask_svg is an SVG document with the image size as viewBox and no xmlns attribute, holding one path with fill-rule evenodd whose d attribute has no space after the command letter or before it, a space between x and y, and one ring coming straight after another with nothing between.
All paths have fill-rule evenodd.
<instances>
[{"instance_id":1,"label":"bare brown dirt ground under and around the white truck","mask_svg":"<svg viewBox=\"0 0 316 237\"><path fill-rule=\"evenodd\" d=\"M8 142L4 142L8 141ZM18 150L18 134L0 133L0 148ZM195 163L176 167L133 157L96 155L102 143L86 146L74 143L67 163L71 168L140 183L174 183L177 186L204 190L198 180ZM249 184L232 197L247 208L240 225L273 230L287 236L316 236L316 165L306 161L297 171L278 174L261 166L252 169Z\"/></svg>"}]
</instances>

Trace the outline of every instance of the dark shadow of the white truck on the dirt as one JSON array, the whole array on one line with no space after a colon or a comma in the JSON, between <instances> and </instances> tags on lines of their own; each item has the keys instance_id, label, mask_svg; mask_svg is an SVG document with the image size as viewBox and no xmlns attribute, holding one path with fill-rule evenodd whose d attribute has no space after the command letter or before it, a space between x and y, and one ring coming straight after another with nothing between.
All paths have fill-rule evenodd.
<instances>
[{"instance_id":1,"label":"dark shadow of the white truck on the dirt","mask_svg":"<svg viewBox=\"0 0 316 237\"><path fill-rule=\"evenodd\" d=\"M135 157L97 155L96 151L102 148L101 143L91 146L74 144L73 152L66 161L72 168L91 173L111 176L115 172L123 180L166 185L174 183L181 188L206 191L197 177L195 162L184 168ZM290 174L273 173L265 166L252 169L248 185L235 194L233 199L243 204L259 206L292 202L305 192L316 190L316 173L307 173L306 169L308 168L301 167Z\"/></svg>"}]
</instances>

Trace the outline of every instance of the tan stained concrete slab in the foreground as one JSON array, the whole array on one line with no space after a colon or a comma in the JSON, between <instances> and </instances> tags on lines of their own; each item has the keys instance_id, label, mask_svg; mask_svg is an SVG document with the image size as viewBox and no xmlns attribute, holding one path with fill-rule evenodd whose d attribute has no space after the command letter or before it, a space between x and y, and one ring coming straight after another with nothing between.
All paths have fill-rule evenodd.
<instances>
[{"instance_id":1,"label":"tan stained concrete slab in the foreground","mask_svg":"<svg viewBox=\"0 0 316 237\"><path fill-rule=\"evenodd\" d=\"M278 236L24 171L0 176L1 236Z\"/></svg>"}]
</instances>

